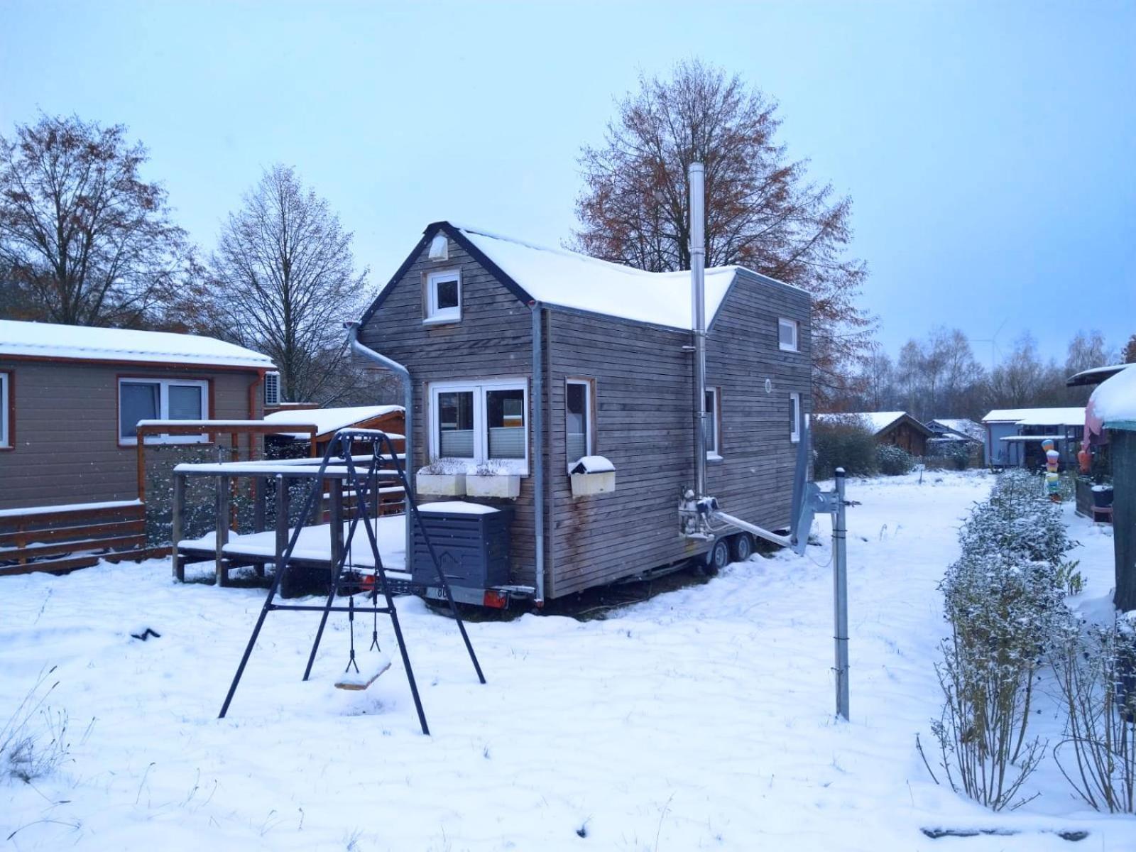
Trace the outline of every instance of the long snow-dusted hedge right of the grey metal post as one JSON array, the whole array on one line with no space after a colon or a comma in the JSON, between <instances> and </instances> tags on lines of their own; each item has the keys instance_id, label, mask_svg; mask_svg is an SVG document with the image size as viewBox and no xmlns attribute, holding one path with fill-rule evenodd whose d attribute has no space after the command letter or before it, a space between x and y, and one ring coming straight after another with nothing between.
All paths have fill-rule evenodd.
<instances>
[{"instance_id":1,"label":"long snow-dusted hedge right of the grey metal post","mask_svg":"<svg viewBox=\"0 0 1136 852\"><path fill-rule=\"evenodd\" d=\"M1044 744L1027 738L1034 683L1064 623L1072 546L1038 481L1003 474L960 532L962 556L941 588L951 638L936 666L945 703L932 728L954 790L1001 810Z\"/></svg>"}]
</instances>

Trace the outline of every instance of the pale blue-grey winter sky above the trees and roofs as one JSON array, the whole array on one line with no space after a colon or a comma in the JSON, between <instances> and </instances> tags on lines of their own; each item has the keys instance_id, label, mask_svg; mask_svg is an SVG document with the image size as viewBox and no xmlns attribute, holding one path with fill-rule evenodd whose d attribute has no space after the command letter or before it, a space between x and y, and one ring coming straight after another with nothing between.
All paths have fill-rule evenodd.
<instances>
[{"instance_id":1,"label":"pale blue-grey winter sky above the trees and roofs","mask_svg":"<svg viewBox=\"0 0 1136 852\"><path fill-rule=\"evenodd\" d=\"M0 133L41 109L128 125L207 250L293 165L381 284L440 218L559 244L580 144L695 56L776 98L791 154L852 197L893 354L937 324L1059 360L1078 328L1136 333L1134 0L0 0Z\"/></svg>"}]
</instances>

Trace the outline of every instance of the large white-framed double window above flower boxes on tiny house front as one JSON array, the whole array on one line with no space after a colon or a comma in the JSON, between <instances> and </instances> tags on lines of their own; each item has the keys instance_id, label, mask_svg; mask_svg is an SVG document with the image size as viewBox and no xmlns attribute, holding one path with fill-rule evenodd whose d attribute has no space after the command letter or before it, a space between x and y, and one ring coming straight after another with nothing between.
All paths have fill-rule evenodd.
<instances>
[{"instance_id":1,"label":"large white-framed double window above flower boxes on tiny house front","mask_svg":"<svg viewBox=\"0 0 1136 852\"><path fill-rule=\"evenodd\" d=\"M431 400L431 458L528 473L526 382L438 383Z\"/></svg>"}]
</instances>

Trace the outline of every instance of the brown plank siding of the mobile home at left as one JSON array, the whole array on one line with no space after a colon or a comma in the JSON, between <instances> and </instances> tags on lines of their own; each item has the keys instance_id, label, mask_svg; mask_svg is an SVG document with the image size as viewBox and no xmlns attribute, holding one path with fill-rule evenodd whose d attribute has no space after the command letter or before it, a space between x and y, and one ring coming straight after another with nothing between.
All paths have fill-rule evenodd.
<instances>
[{"instance_id":1,"label":"brown plank siding of the mobile home at left","mask_svg":"<svg viewBox=\"0 0 1136 852\"><path fill-rule=\"evenodd\" d=\"M133 500L136 448L118 444L118 378L195 378L210 383L209 416L248 419L249 371L209 367L156 368L80 361L0 358L15 376L15 446L0 452L0 509ZM253 417L260 416L257 394Z\"/></svg>"}]
</instances>

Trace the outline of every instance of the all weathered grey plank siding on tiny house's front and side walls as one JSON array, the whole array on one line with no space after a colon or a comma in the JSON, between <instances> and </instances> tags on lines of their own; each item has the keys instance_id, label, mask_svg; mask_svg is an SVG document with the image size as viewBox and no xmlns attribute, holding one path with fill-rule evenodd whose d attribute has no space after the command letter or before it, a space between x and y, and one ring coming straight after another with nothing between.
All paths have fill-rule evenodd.
<instances>
[{"instance_id":1,"label":"all weathered grey plank siding on tiny house's front and side walls","mask_svg":"<svg viewBox=\"0 0 1136 852\"><path fill-rule=\"evenodd\" d=\"M461 321L424 325L428 272L460 268ZM403 364L414 383L415 458L428 459L432 382L521 377L531 381L532 316L502 282L450 240L450 258L431 261L425 244L384 291L360 341ZM800 326L799 351L778 346L778 318ZM720 391L722 459L708 485L722 508L762 526L788 525L796 444L790 392L811 410L808 294L740 273L708 335L708 386ZM678 561L704 551L679 534L680 488L693 484L690 332L548 307L544 329L546 598ZM588 379L594 395L594 452L616 467L616 490L573 499L567 473L565 389ZM771 383L766 393L765 382ZM531 386L531 385L529 385ZM532 389L532 386L531 386ZM529 446L532 408L529 394ZM534 583L533 469L513 501L515 583Z\"/></svg>"}]
</instances>

